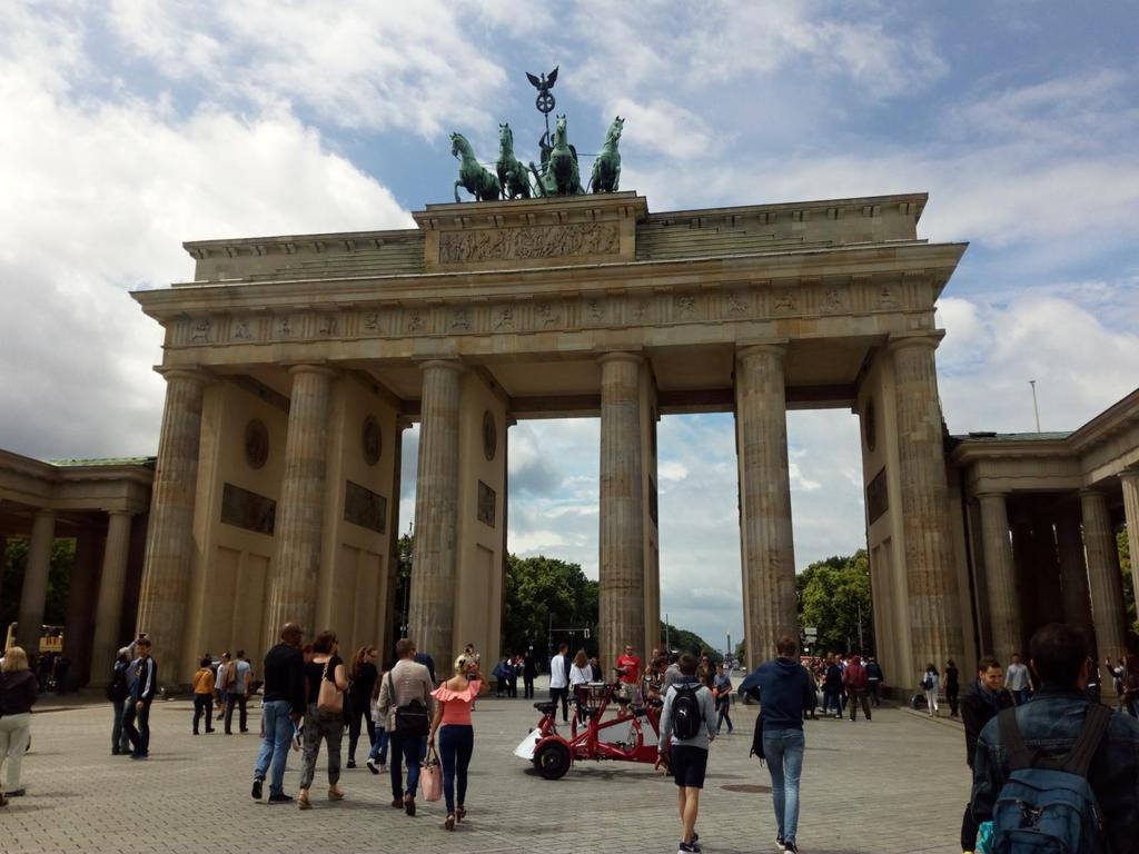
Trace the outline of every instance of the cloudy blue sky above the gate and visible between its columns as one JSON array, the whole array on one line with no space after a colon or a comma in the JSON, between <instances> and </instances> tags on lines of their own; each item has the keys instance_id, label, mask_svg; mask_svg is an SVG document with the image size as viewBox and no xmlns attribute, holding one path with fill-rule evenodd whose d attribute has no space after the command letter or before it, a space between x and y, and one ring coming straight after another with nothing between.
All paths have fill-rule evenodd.
<instances>
[{"instance_id":1,"label":"cloudy blue sky above the gate and visible between its columns","mask_svg":"<svg viewBox=\"0 0 1139 854\"><path fill-rule=\"evenodd\" d=\"M625 117L650 211L926 191L969 243L939 303L950 429L1074 429L1139 385L1139 3L0 3L0 447L151 454L163 383L134 289L185 240L412 227L448 134L508 121L525 72L579 150ZM527 142L527 140L530 140ZM509 547L597 576L598 422L510 429ZM405 526L415 430L407 434ZM857 419L788 416L802 569L865 544ZM659 424L662 610L743 626L730 416ZM697 499L697 500L694 500Z\"/></svg>"}]
</instances>

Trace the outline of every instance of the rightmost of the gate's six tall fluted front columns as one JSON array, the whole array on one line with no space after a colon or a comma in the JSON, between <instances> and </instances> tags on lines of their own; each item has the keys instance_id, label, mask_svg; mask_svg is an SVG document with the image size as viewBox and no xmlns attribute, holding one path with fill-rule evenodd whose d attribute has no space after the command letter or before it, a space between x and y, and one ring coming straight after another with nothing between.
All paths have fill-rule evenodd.
<instances>
[{"instance_id":1,"label":"rightmost of the gate's six tall fluted front columns","mask_svg":"<svg viewBox=\"0 0 1139 854\"><path fill-rule=\"evenodd\" d=\"M949 488L934 351L942 334L891 337L902 534L915 666L962 660Z\"/></svg>"}]
</instances>

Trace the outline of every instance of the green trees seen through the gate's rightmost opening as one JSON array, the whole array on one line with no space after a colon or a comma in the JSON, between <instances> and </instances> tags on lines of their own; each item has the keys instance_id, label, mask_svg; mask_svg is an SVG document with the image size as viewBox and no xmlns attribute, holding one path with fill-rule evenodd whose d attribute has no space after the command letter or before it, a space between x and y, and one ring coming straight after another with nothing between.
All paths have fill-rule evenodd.
<instances>
[{"instance_id":1,"label":"green trees seen through the gate's rightmost opening","mask_svg":"<svg viewBox=\"0 0 1139 854\"><path fill-rule=\"evenodd\" d=\"M860 607L862 646L874 649L870 559L866 549L811 564L795 577L795 596L800 625L819 630L812 651L849 651L858 647Z\"/></svg>"}]
</instances>

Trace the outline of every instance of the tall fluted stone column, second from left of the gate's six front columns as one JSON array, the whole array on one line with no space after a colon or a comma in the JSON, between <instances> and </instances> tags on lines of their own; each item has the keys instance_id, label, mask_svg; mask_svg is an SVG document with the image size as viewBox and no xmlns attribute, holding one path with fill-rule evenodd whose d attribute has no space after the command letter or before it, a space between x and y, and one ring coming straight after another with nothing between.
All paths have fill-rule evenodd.
<instances>
[{"instance_id":1,"label":"tall fluted stone column, second from left of the gate's six front columns","mask_svg":"<svg viewBox=\"0 0 1139 854\"><path fill-rule=\"evenodd\" d=\"M285 623L300 623L308 637L330 626L316 625L320 553L325 528L325 468L328 458L328 404L335 373L317 364L289 369L285 476L273 526L277 550L269 594L269 642ZM350 591L337 594L351 596Z\"/></svg>"}]
</instances>

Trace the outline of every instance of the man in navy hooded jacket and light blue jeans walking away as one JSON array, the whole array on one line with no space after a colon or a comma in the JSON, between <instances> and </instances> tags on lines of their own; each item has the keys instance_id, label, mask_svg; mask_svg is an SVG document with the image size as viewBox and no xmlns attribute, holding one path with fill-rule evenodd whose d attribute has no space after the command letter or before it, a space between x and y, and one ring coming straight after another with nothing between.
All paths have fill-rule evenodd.
<instances>
[{"instance_id":1,"label":"man in navy hooded jacket and light blue jeans walking away","mask_svg":"<svg viewBox=\"0 0 1139 854\"><path fill-rule=\"evenodd\" d=\"M811 675L800 664L798 643L788 634L776 643L777 658L761 664L740 685L759 695L763 713L763 753L771 773L771 799L785 854L798 854L798 778L803 771L803 709L814 704Z\"/></svg>"}]
</instances>

